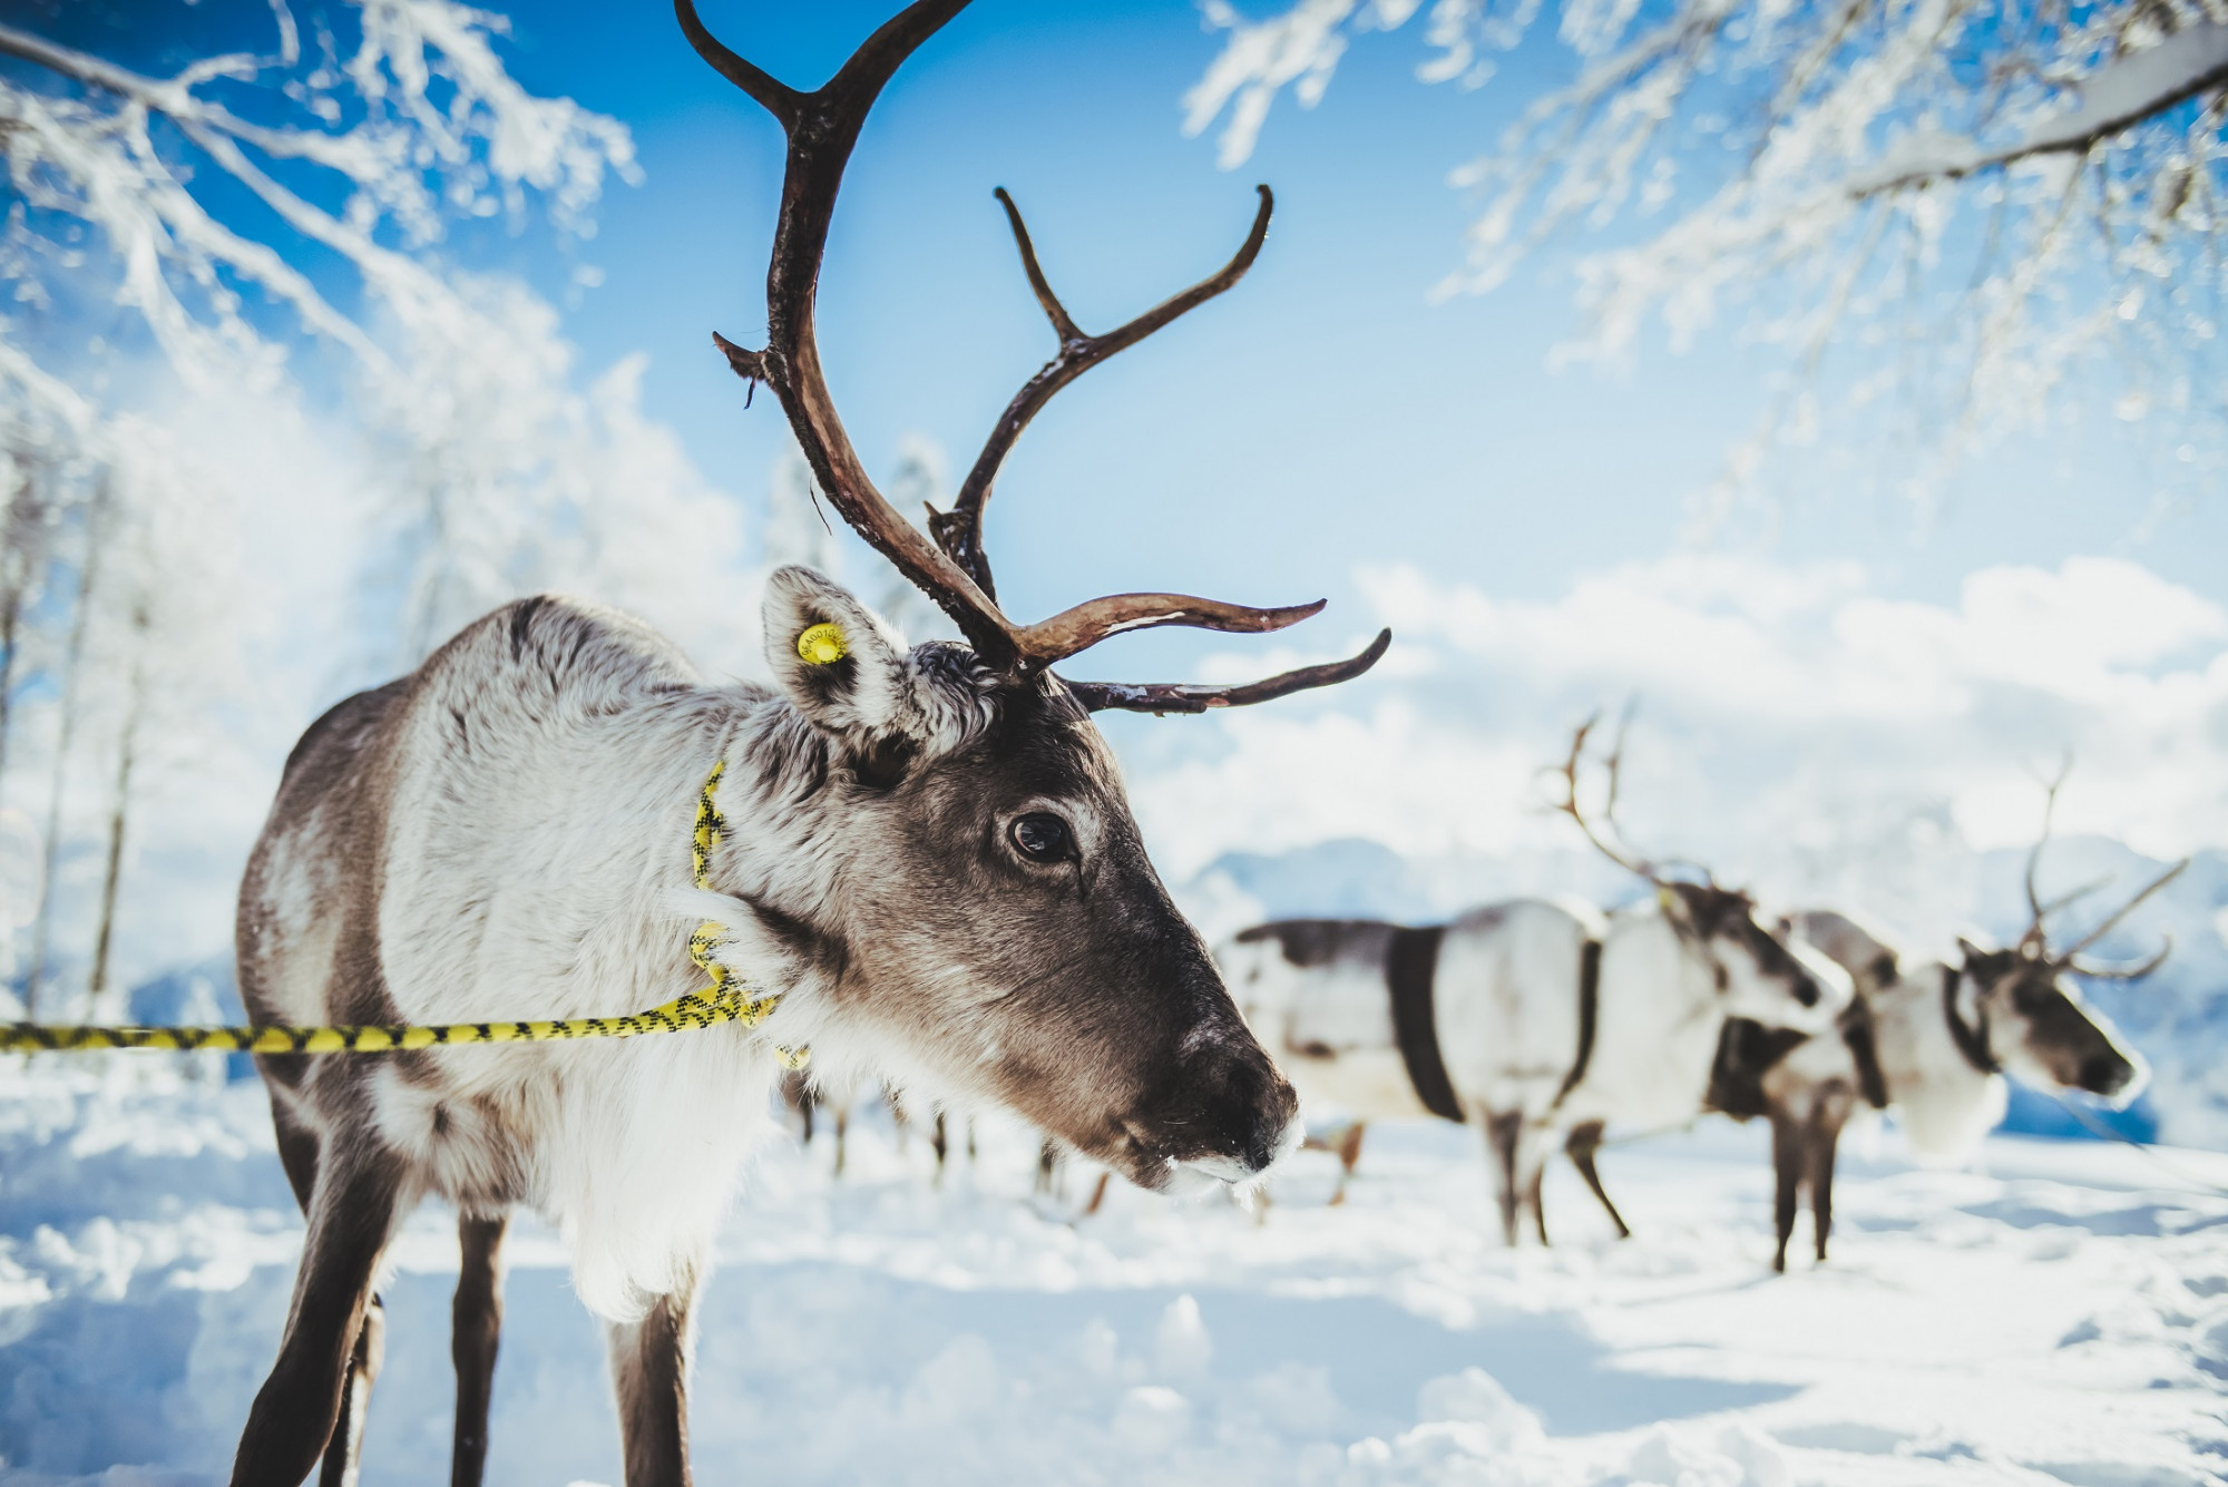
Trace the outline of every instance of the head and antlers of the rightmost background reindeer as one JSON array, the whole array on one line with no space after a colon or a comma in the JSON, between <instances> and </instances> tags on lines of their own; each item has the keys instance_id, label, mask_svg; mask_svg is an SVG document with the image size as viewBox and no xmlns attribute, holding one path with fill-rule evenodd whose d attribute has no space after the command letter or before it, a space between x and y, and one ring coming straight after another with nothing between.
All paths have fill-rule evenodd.
<instances>
[{"instance_id":1,"label":"head and antlers of the rightmost background reindeer","mask_svg":"<svg viewBox=\"0 0 2228 1487\"><path fill-rule=\"evenodd\" d=\"M2083 951L2110 935L2121 919L2134 913L2137 904L2170 884L2190 864L2186 857L2172 864L2088 935L2063 951L2052 951L2050 917L2105 886L2101 882L2083 884L2045 902L2034 884L2043 848L2050 844L2059 788L2063 788L2070 768L2068 761L2050 781L2043 797L2043 830L2034 850L2027 853L2027 930L2010 951L1987 951L1970 939L1958 939L1965 975L1952 991L1943 1015L1952 1020L1958 1046L1967 1048L1967 1057L1983 1066L2007 1069L2043 1089L2079 1089L2128 1102L2143 1089L2143 1062L2119 1042L2112 1022L2088 1006L2079 986L2065 977L2072 973L2090 979L2132 982L2166 964L2175 948L2172 939L2166 939L2148 959L2130 966L2099 966L2083 959Z\"/></svg>"}]
</instances>

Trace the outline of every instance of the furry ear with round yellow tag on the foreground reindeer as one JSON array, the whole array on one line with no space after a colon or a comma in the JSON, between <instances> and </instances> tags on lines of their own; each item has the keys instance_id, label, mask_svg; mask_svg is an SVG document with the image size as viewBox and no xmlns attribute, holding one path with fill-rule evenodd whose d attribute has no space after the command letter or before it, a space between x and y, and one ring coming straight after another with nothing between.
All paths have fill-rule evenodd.
<instances>
[{"instance_id":1,"label":"furry ear with round yellow tag on the foreground reindeer","mask_svg":"<svg viewBox=\"0 0 2228 1487\"><path fill-rule=\"evenodd\" d=\"M905 641L889 623L811 568L766 579L766 663L815 728L851 748L905 732L918 712Z\"/></svg>"}]
</instances>

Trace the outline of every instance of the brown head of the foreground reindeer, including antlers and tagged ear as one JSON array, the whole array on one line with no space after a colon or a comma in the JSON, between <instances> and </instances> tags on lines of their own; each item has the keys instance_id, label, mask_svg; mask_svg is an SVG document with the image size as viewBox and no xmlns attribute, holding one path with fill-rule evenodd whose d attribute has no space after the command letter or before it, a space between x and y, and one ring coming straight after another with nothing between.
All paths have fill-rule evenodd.
<instances>
[{"instance_id":1,"label":"brown head of the foreground reindeer, including antlers and tagged ear","mask_svg":"<svg viewBox=\"0 0 2228 1487\"><path fill-rule=\"evenodd\" d=\"M1038 623L998 608L983 508L1014 441L1067 383L1234 285L1268 236L1221 272L1105 334L1085 334L1052 292L1014 200L996 196L1056 356L991 430L951 512L929 532L867 479L836 414L813 334L820 258L842 171L891 73L965 0L920 0L818 91L791 89L720 45L675 0L697 53L782 125L789 142L766 269L766 349L713 336L749 385L764 383L844 521L951 617L965 646L905 650L827 579L789 568L766 594L766 646L827 766L815 841L838 890L838 1013L878 1026L929 1073L991 1095L1145 1186L1196 1169L1243 1178L1297 1135L1292 1089L1245 1031L1214 962L1154 875L1089 712L1203 712L1357 677L1350 661L1250 686L1067 681L1052 666L1147 626L1281 630L1321 601L1254 610L1188 594L1112 594ZM934 534L934 541L931 541Z\"/></svg>"}]
</instances>

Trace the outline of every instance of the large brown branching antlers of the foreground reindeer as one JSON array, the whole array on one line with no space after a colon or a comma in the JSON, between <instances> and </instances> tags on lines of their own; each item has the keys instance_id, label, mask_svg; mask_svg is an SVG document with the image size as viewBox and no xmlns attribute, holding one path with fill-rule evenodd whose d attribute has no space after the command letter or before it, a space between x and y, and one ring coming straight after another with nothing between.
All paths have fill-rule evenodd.
<instances>
[{"instance_id":1,"label":"large brown branching antlers of the foreground reindeer","mask_svg":"<svg viewBox=\"0 0 2228 1487\"><path fill-rule=\"evenodd\" d=\"M976 648L976 654L1003 672L1029 674L1045 670L1125 630L1190 626L1196 630L1266 632L1308 619L1323 608L1323 601L1257 610L1190 594L1107 594L1063 610L1052 619L1020 626L998 608L989 559L983 550L983 505L989 501L1000 463L1036 412L1052 394L1089 367L1136 345L1176 316L1234 285L1252 267L1254 256L1261 252L1261 240L1268 236L1272 207L1268 187L1261 187L1261 207L1254 214L1245 245L1219 274L1103 336L1083 334L1074 318L1069 318L1045 280L1043 267L1036 263L1036 249L1029 243L1020 211L1000 189L998 200L1005 205L1014 227L1023 269L1061 338L1061 349L1007 405L1005 416L983 445L983 454L967 472L954 510L931 512L934 543L905 521L882 499L882 492L873 488L873 481L867 479L867 470L842 427L836 401L820 370L820 347L813 334L820 258L827 249L829 220L836 211L836 194L842 187L844 165L876 98L905 58L965 7L967 0L918 0L918 4L911 4L869 36L824 87L802 93L778 82L713 38L697 18L693 0L673 0L682 31L697 53L720 76L755 98L782 125L789 142L782 211L773 229L773 256L766 267L766 349L751 352L720 334L713 334L713 341L726 354L737 376L773 387L798 436L798 445L813 470L813 479L829 503L842 512L842 519L951 617L960 634ZM1212 706L1266 701L1268 697L1281 697L1301 688L1346 681L1366 672L1379 654L1384 654L1381 643L1350 661L1286 672L1250 688L1125 688L1116 683L1085 683L1076 688L1076 695L1085 699L1085 706L1196 712Z\"/></svg>"}]
</instances>

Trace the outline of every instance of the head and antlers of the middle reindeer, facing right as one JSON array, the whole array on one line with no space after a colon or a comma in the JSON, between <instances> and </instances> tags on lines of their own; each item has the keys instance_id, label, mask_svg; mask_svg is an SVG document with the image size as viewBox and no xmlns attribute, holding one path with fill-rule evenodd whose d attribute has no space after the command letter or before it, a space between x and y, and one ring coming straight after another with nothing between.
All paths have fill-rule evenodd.
<instances>
[{"instance_id":1,"label":"head and antlers of the middle reindeer, facing right","mask_svg":"<svg viewBox=\"0 0 2228 1487\"><path fill-rule=\"evenodd\" d=\"M1629 873L1655 886L1664 919L1693 955L1711 968L1718 999L1729 1017L1751 1017L1769 1026L1823 1033L1849 1006L1854 988L1849 973L1789 930L1787 919L1767 928L1758 919L1756 899L1738 888L1724 888L1702 868L1702 882L1671 877L1664 864L1651 861L1629 846L1618 828L1618 784L1624 766L1624 728L1604 759L1602 824L1595 826L1580 806L1577 775L1586 739L1600 719L1591 717L1571 737L1571 755L1555 768L1562 799L1555 808L1577 821L1586 841Z\"/></svg>"}]
</instances>

